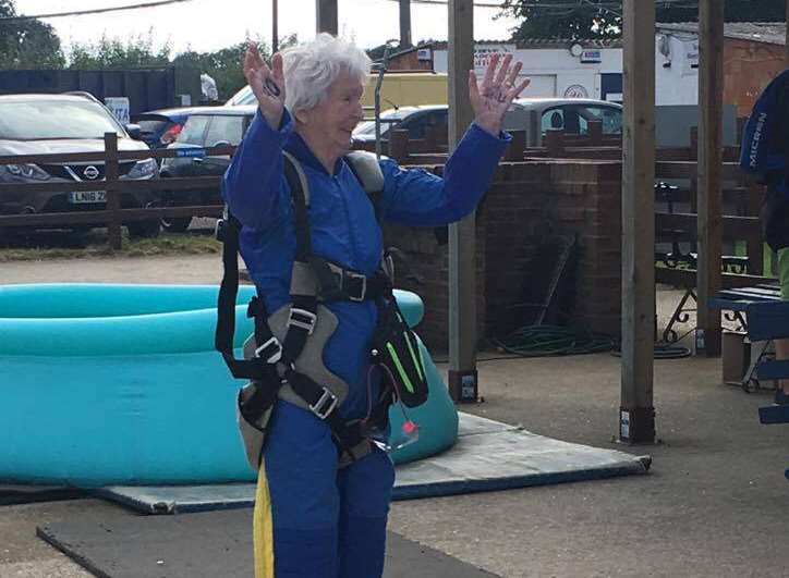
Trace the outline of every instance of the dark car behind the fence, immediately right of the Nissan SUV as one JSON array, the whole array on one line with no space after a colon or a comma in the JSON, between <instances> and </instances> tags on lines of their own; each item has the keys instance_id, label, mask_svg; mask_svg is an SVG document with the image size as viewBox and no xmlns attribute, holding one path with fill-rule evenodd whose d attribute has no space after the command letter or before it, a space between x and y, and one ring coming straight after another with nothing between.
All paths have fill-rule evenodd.
<instances>
[{"instance_id":1,"label":"dark car behind the fence, immediately right of the Nissan SUV","mask_svg":"<svg viewBox=\"0 0 789 578\"><path fill-rule=\"evenodd\" d=\"M173 144L167 148L203 148L222 145L236 146L257 110L256 106L202 107L191 109L183 128ZM171 176L221 176L230 165L230 156L175 157L161 162L161 177ZM166 207L221 205L219 187L163 190L160 204ZM191 217L166 218L161 225L166 231L185 231Z\"/></svg>"}]
</instances>

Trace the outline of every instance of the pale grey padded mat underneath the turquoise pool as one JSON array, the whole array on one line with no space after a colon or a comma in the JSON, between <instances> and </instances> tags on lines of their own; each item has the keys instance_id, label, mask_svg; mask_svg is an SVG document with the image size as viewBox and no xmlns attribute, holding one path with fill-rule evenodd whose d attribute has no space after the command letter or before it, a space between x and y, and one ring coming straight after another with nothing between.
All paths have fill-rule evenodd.
<instances>
[{"instance_id":1,"label":"pale grey padded mat underneath the turquoise pool","mask_svg":"<svg viewBox=\"0 0 789 578\"><path fill-rule=\"evenodd\" d=\"M490 419L460 414L458 443L449 451L398 466L394 500L507 490L644 474L651 458L561 442ZM255 485L112 485L101 497L146 514L247 507Z\"/></svg>"}]
</instances>

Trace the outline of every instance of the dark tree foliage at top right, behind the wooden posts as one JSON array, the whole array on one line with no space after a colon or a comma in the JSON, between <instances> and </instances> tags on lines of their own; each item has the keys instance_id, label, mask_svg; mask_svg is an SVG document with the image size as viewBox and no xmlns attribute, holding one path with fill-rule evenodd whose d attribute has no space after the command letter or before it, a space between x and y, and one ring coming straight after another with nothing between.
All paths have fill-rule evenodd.
<instances>
[{"instance_id":1,"label":"dark tree foliage at top right, behind the wooden posts","mask_svg":"<svg viewBox=\"0 0 789 578\"><path fill-rule=\"evenodd\" d=\"M727 22L784 22L786 0L725 0ZM699 2L655 0L657 22L696 22ZM618 38L621 0L505 0L505 14L522 19L514 40L529 38Z\"/></svg>"}]
</instances>

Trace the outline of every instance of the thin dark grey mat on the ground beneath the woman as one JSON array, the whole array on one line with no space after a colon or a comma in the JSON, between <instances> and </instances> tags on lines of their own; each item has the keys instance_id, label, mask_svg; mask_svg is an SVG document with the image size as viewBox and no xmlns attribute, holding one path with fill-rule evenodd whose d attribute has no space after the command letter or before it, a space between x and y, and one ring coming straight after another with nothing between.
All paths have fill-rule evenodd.
<instances>
[{"instance_id":1,"label":"thin dark grey mat on the ground beneath the woman","mask_svg":"<svg viewBox=\"0 0 789 578\"><path fill-rule=\"evenodd\" d=\"M99 577L252 576L252 512L71 520L37 534ZM437 550L389 532L385 578L495 578Z\"/></svg>"}]
</instances>

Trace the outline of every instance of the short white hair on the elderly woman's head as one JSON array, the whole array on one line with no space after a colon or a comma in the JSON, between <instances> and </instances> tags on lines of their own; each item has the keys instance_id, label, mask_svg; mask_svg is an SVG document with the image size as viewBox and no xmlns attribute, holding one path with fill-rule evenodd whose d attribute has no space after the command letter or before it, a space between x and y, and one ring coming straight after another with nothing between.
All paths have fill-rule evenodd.
<instances>
[{"instance_id":1,"label":"short white hair on the elderly woman's head","mask_svg":"<svg viewBox=\"0 0 789 578\"><path fill-rule=\"evenodd\" d=\"M364 85L369 57L353 42L321 33L314 40L282 52L286 107L291 112L309 110L329 96L329 87L341 71Z\"/></svg>"}]
</instances>

